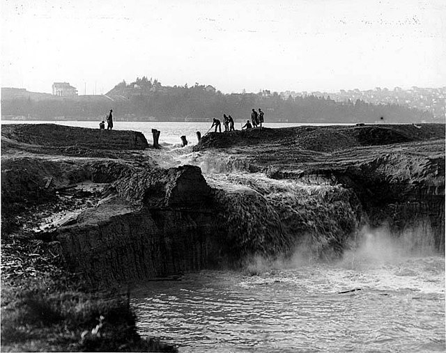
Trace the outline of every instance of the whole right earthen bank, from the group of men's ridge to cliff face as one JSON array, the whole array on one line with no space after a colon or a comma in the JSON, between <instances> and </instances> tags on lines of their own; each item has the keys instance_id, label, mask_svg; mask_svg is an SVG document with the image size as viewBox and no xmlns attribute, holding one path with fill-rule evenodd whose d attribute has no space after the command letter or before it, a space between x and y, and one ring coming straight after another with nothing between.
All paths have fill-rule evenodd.
<instances>
[{"instance_id":1,"label":"whole right earthen bank, from the group of men's ridge to cliff face","mask_svg":"<svg viewBox=\"0 0 446 353\"><path fill-rule=\"evenodd\" d=\"M422 233L444 251L445 125L253 129L203 136L194 150L236 170L350 189L371 226ZM229 170L231 170L229 168Z\"/></svg>"}]
</instances>

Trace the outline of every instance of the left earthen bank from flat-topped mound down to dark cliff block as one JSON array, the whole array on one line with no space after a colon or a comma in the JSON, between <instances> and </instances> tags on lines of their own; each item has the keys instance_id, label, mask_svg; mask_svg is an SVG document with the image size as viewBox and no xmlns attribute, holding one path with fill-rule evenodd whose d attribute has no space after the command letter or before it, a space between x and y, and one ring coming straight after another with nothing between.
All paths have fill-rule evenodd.
<instances>
[{"instance_id":1,"label":"left earthen bank from flat-topped mound down to dark cliff block","mask_svg":"<svg viewBox=\"0 0 446 353\"><path fill-rule=\"evenodd\" d=\"M211 189L197 166L156 168L131 150L145 141L134 132L13 125L2 134L2 226L40 215L47 224L36 237L52 242L72 272L125 282L218 262ZM98 145L98 135L107 142ZM123 145L129 136L134 144ZM76 157L66 150L73 144ZM105 145L108 158L99 157Z\"/></svg>"}]
</instances>

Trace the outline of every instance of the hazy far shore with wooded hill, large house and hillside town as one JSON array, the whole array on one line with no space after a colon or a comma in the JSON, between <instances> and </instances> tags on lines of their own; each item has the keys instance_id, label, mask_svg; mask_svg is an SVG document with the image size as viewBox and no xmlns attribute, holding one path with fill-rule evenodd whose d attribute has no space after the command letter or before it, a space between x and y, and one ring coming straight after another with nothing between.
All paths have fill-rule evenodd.
<instances>
[{"instance_id":1,"label":"hazy far shore with wooded hill, large house and hillside town","mask_svg":"<svg viewBox=\"0 0 446 353\"><path fill-rule=\"evenodd\" d=\"M209 84L162 86L157 79L138 77L130 84L116 84L105 95L78 95L69 82L54 82L52 94L1 88L1 116L2 120L97 120L113 107L116 120L210 121L226 112L242 121L252 108L263 107L270 122L444 123L445 100L446 86L224 94Z\"/></svg>"}]
</instances>

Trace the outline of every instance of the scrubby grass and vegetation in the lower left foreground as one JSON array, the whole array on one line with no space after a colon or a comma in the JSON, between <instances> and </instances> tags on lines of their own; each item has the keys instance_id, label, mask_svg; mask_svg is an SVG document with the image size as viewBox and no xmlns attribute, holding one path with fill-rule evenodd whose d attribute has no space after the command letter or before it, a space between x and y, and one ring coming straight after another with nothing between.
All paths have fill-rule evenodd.
<instances>
[{"instance_id":1,"label":"scrubby grass and vegetation in the lower left foreground","mask_svg":"<svg viewBox=\"0 0 446 353\"><path fill-rule=\"evenodd\" d=\"M86 283L65 269L57 242L35 234L18 226L1 237L3 352L176 352L139 336L129 290Z\"/></svg>"}]
</instances>

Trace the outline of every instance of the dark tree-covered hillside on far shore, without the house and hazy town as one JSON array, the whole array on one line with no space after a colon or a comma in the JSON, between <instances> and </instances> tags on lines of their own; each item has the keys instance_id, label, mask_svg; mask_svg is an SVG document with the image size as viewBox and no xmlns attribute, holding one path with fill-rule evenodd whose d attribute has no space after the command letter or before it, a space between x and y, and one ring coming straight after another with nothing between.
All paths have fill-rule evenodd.
<instances>
[{"instance_id":1,"label":"dark tree-covered hillside on far shore, without the house and hazy town","mask_svg":"<svg viewBox=\"0 0 446 353\"><path fill-rule=\"evenodd\" d=\"M106 95L54 98L49 95L52 98L48 100L34 100L26 94L18 96L11 100L2 96L3 118L98 120L113 109L115 120L211 121L213 117L221 119L225 113L241 122L250 118L252 109L261 108L266 122L443 123L429 112L398 104L336 102L315 95L290 95L284 100L277 92L270 91L224 94L210 85L162 86L157 79L146 77L130 84L122 81Z\"/></svg>"}]
</instances>

